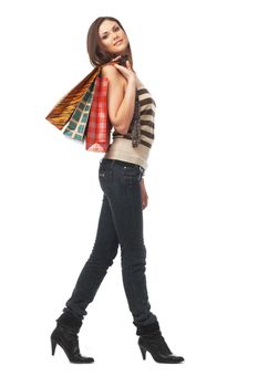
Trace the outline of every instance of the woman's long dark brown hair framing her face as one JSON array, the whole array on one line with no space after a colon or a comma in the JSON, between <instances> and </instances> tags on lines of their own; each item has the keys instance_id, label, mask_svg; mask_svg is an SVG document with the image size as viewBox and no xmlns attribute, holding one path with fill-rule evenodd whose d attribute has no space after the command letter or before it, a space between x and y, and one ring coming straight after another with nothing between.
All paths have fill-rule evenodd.
<instances>
[{"instance_id":1,"label":"woman's long dark brown hair framing her face","mask_svg":"<svg viewBox=\"0 0 258 387\"><path fill-rule=\"evenodd\" d=\"M104 20L115 21L121 27L121 29L125 32L121 22L117 19L112 18L112 17L97 18L91 24L91 27L87 31L86 46L87 46L87 53L90 56L90 62L93 66L99 66L99 65L105 64L105 63L112 61L112 59L114 59L115 56L117 56L117 54L115 54L115 53L111 54L102 48L101 39L99 35L99 28ZM126 32L125 32L125 34L126 34ZM130 60L131 66L133 69L133 55L132 55L130 43L127 45L125 53L128 55L128 60Z\"/></svg>"}]
</instances>

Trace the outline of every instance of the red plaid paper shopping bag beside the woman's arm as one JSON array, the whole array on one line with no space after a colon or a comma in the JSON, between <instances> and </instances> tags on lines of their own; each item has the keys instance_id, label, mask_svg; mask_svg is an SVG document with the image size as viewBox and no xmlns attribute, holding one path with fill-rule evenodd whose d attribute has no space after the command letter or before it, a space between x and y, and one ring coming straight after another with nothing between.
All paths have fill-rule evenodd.
<instances>
[{"instance_id":1,"label":"red plaid paper shopping bag beside the woman's arm","mask_svg":"<svg viewBox=\"0 0 258 387\"><path fill-rule=\"evenodd\" d=\"M85 137L86 150L106 151L110 145L112 125L107 114L107 77L96 76Z\"/></svg>"}]
</instances>

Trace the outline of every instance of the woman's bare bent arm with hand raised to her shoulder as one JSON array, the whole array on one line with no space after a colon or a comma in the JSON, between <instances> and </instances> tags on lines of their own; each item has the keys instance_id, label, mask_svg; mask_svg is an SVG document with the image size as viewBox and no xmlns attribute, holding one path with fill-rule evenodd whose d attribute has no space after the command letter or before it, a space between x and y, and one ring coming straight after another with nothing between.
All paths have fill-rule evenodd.
<instances>
[{"instance_id":1,"label":"woman's bare bent arm with hand raised to her shoulder","mask_svg":"<svg viewBox=\"0 0 258 387\"><path fill-rule=\"evenodd\" d=\"M103 66L102 72L103 76L106 76L109 80L107 109L111 124L118 133L126 134L134 115L135 73L131 70L128 61L126 62L126 67L114 63ZM127 80L125 91L124 77Z\"/></svg>"}]
</instances>

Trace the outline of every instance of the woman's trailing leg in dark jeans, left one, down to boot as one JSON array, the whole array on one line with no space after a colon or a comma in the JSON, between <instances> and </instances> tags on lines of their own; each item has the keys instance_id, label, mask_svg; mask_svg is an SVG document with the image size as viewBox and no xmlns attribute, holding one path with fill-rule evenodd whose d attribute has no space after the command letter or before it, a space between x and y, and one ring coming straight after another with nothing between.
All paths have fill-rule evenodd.
<instances>
[{"instance_id":1,"label":"woman's trailing leg in dark jeans, left one, down to boot","mask_svg":"<svg viewBox=\"0 0 258 387\"><path fill-rule=\"evenodd\" d=\"M63 312L83 320L86 306L93 301L109 266L113 264L118 248L111 208L105 195L101 208L97 232L92 253L79 275L71 297Z\"/></svg>"}]
</instances>

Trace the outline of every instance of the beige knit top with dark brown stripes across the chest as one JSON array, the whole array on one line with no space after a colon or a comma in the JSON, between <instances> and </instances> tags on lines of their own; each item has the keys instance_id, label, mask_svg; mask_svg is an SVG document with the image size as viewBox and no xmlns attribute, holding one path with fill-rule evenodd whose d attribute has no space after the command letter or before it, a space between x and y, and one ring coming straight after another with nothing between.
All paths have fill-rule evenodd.
<instances>
[{"instance_id":1,"label":"beige knit top with dark brown stripes across the chest","mask_svg":"<svg viewBox=\"0 0 258 387\"><path fill-rule=\"evenodd\" d=\"M132 146L132 129L125 135L114 129L112 133L113 142L110 144L104 158L137 164L146 169L149 150L154 140L156 103L143 84L137 86L137 93L141 112L141 142L138 146Z\"/></svg>"}]
</instances>

